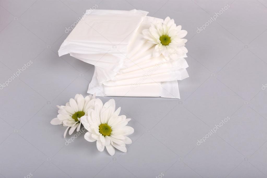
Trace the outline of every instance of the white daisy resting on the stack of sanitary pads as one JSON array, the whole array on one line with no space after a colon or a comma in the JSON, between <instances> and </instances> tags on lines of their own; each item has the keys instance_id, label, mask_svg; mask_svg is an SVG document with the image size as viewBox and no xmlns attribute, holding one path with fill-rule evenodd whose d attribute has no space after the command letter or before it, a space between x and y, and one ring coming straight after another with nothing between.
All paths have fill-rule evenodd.
<instances>
[{"instance_id":1,"label":"white daisy resting on the stack of sanitary pads","mask_svg":"<svg viewBox=\"0 0 267 178\"><path fill-rule=\"evenodd\" d=\"M143 30L144 38L156 44L153 57L163 54L166 59L169 57L177 59L185 55L188 52L184 47L187 39L183 37L186 36L187 31L181 29L182 26L176 26L174 19L166 17L164 21L156 20L149 29Z\"/></svg>"}]
</instances>

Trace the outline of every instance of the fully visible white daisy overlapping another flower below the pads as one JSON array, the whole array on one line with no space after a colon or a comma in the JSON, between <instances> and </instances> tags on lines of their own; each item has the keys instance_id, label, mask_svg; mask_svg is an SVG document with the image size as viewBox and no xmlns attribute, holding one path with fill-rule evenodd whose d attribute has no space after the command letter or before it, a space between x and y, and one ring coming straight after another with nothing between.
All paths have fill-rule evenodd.
<instances>
[{"instance_id":1,"label":"fully visible white daisy overlapping another flower below the pads","mask_svg":"<svg viewBox=\"0 0 267 178\"><path fill-rule=\"evenodd\" d=\"M102 102L96 102L95 109L89 109L88 116L81 117L82 124L88 130L84 135L85 140L96 141L99 151L106 147L111 156L115 154L115 148L126 152L125 144L132 143L127 135L132 134L134 130L126 126L131 119L125 115L119 116L119 113L120 108L115 111L115 101L111 99L104 105Z\"/></svg>"}]
</instances>

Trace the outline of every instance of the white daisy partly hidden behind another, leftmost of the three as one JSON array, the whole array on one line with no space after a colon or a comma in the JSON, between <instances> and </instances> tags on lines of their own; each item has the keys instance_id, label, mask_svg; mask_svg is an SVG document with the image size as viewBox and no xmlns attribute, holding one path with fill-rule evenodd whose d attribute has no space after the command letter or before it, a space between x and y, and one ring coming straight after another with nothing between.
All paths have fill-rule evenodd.
<instances>
[{"instance_id":1,"label":"white daisy partly hidden behind another, leftmost of the three","mask_svg":"<svg viewBox=\"0 0 267 178\"><path fill-rule=\"evenodd\" d=\"M58 107L58 115L56 118L51 120L52 125L61 125L67 126L68 128L64 132L64 138L69 129L69 135L71 135L76 129L77 132L80 130L81 122L80 118L84 115L87 115L90 108L95 106L95 94L86 96L85 98L81 94L76 94L73 98L70 98L69 102L65 106Z\"/></svg>"}]
</instances>

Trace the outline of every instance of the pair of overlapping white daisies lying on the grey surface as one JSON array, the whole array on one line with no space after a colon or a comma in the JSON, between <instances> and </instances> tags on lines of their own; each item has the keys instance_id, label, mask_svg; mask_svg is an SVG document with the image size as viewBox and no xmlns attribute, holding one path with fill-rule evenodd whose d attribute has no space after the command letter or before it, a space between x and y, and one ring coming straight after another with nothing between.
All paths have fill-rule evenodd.
<instances>
[{"instance_id":1,"label":"pair of overlapping white daisies lying on the grey surface","mask_svg":"<svg viewBox=\"0 0 267 178\"><path fill-rule=\"evenodd\" d=\"M127 126L130 118L125 115L119 116L121 108L115 111L115 100L111 99L105 104L95 95L85 98L81 94L76 94L70 98L65 106L57 106L58 115L51 120L52 125L66 126L64 138L67 132L71 135L74 130L78 132L81 125L88 131L84 139L89 142L96 141L99 151L104 151L106 147L108 153L113 156L115 148L126 152L125 144L131 144L132 140L127 137L134 132L134 129Z\"/></svg>"}]
</instances>

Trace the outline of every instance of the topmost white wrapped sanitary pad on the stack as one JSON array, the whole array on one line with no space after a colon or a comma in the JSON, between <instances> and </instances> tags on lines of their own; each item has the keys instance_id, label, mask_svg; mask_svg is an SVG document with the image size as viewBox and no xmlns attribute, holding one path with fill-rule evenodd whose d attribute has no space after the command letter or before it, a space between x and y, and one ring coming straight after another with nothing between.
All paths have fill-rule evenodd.
<instances>
[{"instance_id":1,"label":"topmost white wrapped sanitary pad on the stack","mask_svg":"<svg viewBox=\"0 0 267 178\"><path fill-rule=\"evenodd\" d=\"M80 20L58 50L59 56L80 54L127 54L129 41L148 14L140 10L94 10Z\"/></svg>"}]
</instances>

